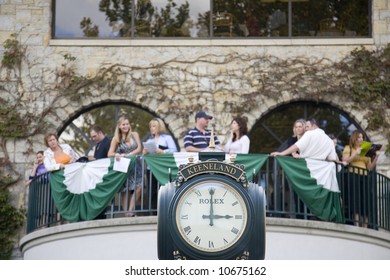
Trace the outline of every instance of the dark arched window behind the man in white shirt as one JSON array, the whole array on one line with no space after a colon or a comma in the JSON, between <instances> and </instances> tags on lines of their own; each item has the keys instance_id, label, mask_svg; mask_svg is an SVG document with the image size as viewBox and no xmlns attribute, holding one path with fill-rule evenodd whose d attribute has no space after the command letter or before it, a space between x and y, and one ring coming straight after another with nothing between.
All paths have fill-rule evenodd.
<instances>
[{"instance_id":1,"label":"dark arched window behind the man in white shirt","mask_svg":"<svg viewBox=\"0 0 390 280\"><path fill-rule=\"evenodd\" d=\"M334 134L338 138L337 149L340 151L348 145L352 131L362 130L345 112L328 103L292 102L273 109L252 127L249 132L250 153L268 154L276 151L293 134L294 121L300 118L315 118L325 133Z\"/></svg>"}]
</instances>

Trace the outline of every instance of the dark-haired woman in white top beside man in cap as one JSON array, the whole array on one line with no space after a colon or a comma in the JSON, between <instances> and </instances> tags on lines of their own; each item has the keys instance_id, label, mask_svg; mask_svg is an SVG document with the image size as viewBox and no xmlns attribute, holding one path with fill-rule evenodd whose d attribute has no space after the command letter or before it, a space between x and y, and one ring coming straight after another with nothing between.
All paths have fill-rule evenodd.
<instances>
[{"instance_id":1,"label":"dark-haired woman in white top beside man in cap","mask_svg":"<svg viewBox=\"0 0 390 280\"><path fill-rule=\"evenodd\" d=\"M228 154L247 154L249 152L250 140L246 121L241 117L236 117L230 124L231 136L224 146Z\"/></svg>"}]
</instances>

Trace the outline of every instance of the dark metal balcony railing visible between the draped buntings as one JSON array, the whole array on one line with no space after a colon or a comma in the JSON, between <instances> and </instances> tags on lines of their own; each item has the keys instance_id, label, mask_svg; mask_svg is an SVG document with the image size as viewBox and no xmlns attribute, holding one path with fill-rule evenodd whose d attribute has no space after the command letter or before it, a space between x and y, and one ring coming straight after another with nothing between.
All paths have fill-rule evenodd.
<instances>
[{"instance_id":1,"label":"dark metal balcony railing visible between the draped buntings","mask_svg":"<svg viewBox=\"0 0 390 280\"><path fill-rule=\"evenodd\" d=\"M347 224L360 225L372 229L390 230L390 179L375 171L355 167L338 167L337 180L342 199L342 209ZM247 172L250 172L247 170ZM136 171L130 175L135 176ZM157 193L160 187L145 162L142 165L142 188L140 197L132 212L138 216L157 214ZM29 186L27 233L39 228L50 227L65 222L57 211L51 196L49 174L34 178ZM261 170L253 176L253 181L264 187L266 194L266 214L269 217L291 219L317 218L294 192L277 161L270 157ZM131 192L118 192L107 208L96 219L125 217L126 204ZM134 198L135 199L135 198Z\"/></svg>"}]
</instances>

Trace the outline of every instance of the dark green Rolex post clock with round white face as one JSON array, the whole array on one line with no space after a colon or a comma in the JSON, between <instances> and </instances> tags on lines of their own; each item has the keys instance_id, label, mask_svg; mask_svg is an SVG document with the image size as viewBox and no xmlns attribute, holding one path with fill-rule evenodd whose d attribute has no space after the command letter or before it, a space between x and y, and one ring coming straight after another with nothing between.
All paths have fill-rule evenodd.
<instances>
[{"instance_id":1,"label":"dark green Rolex post clock with round white face","mask_svg":"<svg viewBox=\"0 0 390 280\"><path fill-rule=\"evenodd\" d=\"M236 173L225 163L215 165L213 172L203 172L202 166L211 169L189 165L201 172L196 176L189 172L179 186L171 182L160 188L159 259L264 259L263 188L240 175L217 172Z\"/></svg>"}]
</instances>

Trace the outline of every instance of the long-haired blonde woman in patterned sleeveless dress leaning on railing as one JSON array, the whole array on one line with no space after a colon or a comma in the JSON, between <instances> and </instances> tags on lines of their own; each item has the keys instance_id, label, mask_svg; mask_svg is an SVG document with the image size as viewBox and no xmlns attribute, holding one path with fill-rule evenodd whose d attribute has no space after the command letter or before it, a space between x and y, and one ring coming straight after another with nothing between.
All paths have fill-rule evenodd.
<instances>
[{"instance_id":1,"label":"long-haired blonde woman in patterned sleeveless dress leaning on railing","mask_svg":"<svg viewBox=\"0 0 390 280\"><path fill-rule=\"evenodd\" d=\"M120 160L125 156L136 156L142 151L141 140L137 132L131 130L129 118L122 116L118 119L114 137L111 140L109 157ZM126 217L134 217L136 201L140 198L142 189L142 164L136 159L135 171L132 172L122 188L122 209ZM130 194L130 195L129 195Z\"/></svg>"}]
</instances>

